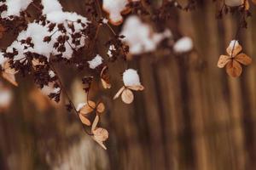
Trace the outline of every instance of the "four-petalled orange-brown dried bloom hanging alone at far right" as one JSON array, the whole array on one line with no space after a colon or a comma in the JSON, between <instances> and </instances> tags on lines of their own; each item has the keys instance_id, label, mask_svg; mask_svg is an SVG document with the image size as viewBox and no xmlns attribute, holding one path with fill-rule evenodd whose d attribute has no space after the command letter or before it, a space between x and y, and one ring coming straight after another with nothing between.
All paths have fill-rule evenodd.
<instances>
[{"instance_id":1,"label":"four-petalled orange-brown dried bloom hanging alone at far right","mask_svg":"<svg viewBox=\"0 0 256 170\"><path fill-rule=\"evenodd\" d=\"M239 77L241 75L241 65L249 65L252 63L252 59L247 54L241 53L242 47L233 40L230 42L230 46L226 49L229 55L220 55L218 59L218 67L224 68L226 66L226 72L230 77Z\"/></svg>"}]
</instances>

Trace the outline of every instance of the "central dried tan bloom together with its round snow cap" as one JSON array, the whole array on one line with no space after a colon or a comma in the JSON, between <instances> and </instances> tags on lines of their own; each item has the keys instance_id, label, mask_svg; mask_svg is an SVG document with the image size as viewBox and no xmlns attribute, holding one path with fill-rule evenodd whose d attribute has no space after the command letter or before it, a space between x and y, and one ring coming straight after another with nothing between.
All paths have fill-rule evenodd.
<instances>
[{"instance_id":1,"label":"central dried tan bloom together with its round snow cap","mask_svg":"<svg viewBox=\"0 0 256 170\"><path fill-rule=\"evenodd\" d=\"M133 69L128 69L124 72L123 82L125 86L119 89L118 93L115 94L113 99L117 99L121 94L121 99L123 102L125 102L125 104L131 104L134 99L134 95L131 90L142 91L144 87L141 85L137 71Z\"/></svg>"}]
</instances>

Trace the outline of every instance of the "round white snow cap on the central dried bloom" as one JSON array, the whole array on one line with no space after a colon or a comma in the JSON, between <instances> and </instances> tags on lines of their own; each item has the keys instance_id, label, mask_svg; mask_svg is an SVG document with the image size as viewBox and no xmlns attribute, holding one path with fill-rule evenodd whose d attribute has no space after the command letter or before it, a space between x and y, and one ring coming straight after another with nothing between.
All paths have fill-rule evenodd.
<instances>
[{"instance_id":1,"label":"round white snow cap on the central dried bloom","mask_svg":"<svg viewBox=\"0 0 256 170\"><path fill-rule=\"evenodd\" d=\"M139 86L141 85L140 77L137 74L137 71L133 69L128 69L123 73L123 81L125 86Z\"/></svg>"}]
</instances>

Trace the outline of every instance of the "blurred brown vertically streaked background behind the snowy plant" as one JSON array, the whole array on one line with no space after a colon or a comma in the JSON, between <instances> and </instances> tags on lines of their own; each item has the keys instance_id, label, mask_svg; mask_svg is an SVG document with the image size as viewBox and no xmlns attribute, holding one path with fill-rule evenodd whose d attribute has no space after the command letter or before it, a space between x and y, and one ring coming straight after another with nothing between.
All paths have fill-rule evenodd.
<instances>
[{"instance_id":1,"label":"blurred brown vertically streaked background behind the snowy plant","mask_svg":"<svg viewBox=\"0 0 256 170\"><path fill-rule=\"evenodd\" d=\"M80 0L61 3L68 11L84 14ZM108 150L82 132L77 117L65 110L65 99L59 105L50 102L31 78L19 77L19 88L1 80L11 88L13 100L0 113L0 169L255 169L255 62L239 78L218 69L218 56L235 37L237 17L229 14L216 20L215 3L201 0L198 4L192 12L173 10L172 20L166 23L172 32L193 38L191 54L143 54L129 61L145 87L136 93L133 104L112 100L122 86L119 64L110 67L115 84L111 90L105 92L95 84L91 99L101 97L108 109L102 117L102 127L110 133ZM239 33L239 40L254 60L255 7L251 11L253 17L248 19L247 30ZM100 37L104 31L108 29ZM12 40L4 36L1 48ZM97 50L103 53L101 47ZM85 100L80 77L88 73L63 65L57 70L75 104Z\"/></svg>"}]
</instances>

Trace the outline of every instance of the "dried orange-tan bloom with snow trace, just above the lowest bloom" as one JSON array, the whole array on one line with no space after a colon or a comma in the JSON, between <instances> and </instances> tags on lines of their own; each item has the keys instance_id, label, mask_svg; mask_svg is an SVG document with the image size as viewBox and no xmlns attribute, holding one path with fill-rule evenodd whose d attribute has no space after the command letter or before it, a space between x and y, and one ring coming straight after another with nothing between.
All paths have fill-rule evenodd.
<instances>
[{"instance_id":1,"label":"dried orange-tan bloom with snow trace, just above the lowest bloom","mask_svg":"<svg viewBox=\"0 0 256 170\"><path fill-rule=\"evenodd\" d=\"M96 111L97 114L103 113L105 111L105 105L102 103L96 105L94 101L89 100L87 104L80 104L77 110L79 111L79 118L81 122L83 122L84 125L90 126L91 122L86 116L93 111Z\"/></svg>"}]
</instances>

